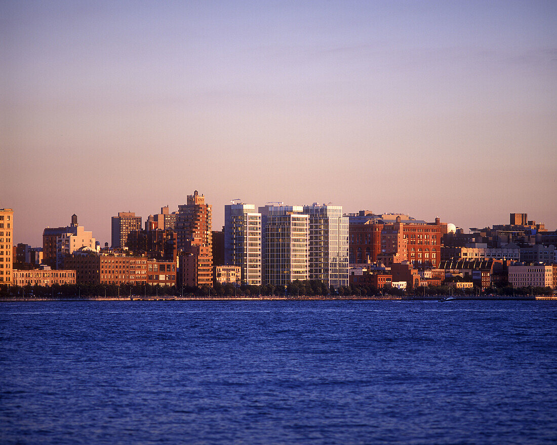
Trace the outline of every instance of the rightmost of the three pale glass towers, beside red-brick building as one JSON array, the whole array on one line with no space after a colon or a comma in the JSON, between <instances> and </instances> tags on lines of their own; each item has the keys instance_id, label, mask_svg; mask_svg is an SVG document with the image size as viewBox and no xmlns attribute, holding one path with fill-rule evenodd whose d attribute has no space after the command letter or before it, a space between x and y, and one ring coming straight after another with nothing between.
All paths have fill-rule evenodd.
<instances>
[{"instance_id":1,"label":"rightmost of the three pale glass towers, beside red-brick building","mask_svg":"<svg viewBox=\"0 0 557 445\"><path fill-rule=\"evenodd\" d=\"M309 215L309 279L348 286L348 217L341 206L304 206Z\"/></svg>"}]
</instances>

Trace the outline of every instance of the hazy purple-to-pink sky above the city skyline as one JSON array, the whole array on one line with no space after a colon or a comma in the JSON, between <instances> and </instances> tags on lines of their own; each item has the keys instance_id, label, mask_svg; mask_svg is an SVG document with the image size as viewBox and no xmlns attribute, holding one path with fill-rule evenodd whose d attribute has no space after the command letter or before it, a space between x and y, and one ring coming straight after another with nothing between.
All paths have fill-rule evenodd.
<instances>
[{"instance_id":1,"label":"hazy purple-to-pink sky above the city skyline","mask_svg":"<svg viewBox=\"0 0 557 445\"><path fill-rule=\"evenodd\" d=\"M557 228L557 2L0 2L14 243L231 199Z\"/></svg>"}]
</instances>

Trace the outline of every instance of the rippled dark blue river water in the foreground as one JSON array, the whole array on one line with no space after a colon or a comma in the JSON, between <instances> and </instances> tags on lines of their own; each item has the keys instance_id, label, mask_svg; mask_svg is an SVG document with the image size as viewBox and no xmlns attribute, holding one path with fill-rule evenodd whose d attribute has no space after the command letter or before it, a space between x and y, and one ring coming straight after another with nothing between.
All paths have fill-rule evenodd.
<instances>
[{"instance_id":1,"label":"rippled dark blue river water in the foreground","mask_svg":"<svg viewBox=\"0 0 557 445\"><path fill-rule=\"evenodd\" d=\"M557 442L555 302L0 304L0 442Z\"/></svg>"}]
</instances>

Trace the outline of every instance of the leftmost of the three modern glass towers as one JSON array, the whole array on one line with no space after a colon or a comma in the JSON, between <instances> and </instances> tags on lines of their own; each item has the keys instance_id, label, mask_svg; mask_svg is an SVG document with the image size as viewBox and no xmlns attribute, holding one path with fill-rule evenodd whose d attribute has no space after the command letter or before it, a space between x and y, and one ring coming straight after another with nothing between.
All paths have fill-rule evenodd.
<instances>
[{"instance_id":1,"label":"leftmost of the three modern glass towers","mask_svg":"<svg viewBox=\"0 0 557 445\"><path fill-rule=\"evenodd\" d=\"M224 206L224 263L241 268L241 281L261 284L261 213L253 204Z\"/></svg>"}]
</instances>

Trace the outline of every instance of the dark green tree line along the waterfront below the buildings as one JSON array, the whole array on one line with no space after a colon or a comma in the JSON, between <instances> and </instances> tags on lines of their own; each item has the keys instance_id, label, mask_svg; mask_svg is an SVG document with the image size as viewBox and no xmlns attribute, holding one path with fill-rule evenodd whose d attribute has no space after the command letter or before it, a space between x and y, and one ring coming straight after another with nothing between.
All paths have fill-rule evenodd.
<instances>
[{"instance_id":1,"label":"dark green tree line along the waterfront below the buildings","mask_svg":"<svg viewBox=\"0 0 557 445\"><path fill-rule=\"evenodd\" d=\"M490 287L484 291L480 287L452 288L449 286L428 286L416 288L409 293L403 289L385 286L383 289L371 285L350 285L335 288L327 287L318 280L293 281L287 286L234 286L230 283L216 282L213 287L203 286L155 286L155 285L52 285L52 286L4 286L0 288L0 298L13 299L53 299L63 300L76 297L271 297L284 296L291 299L302 297L378 297L378 296L417 296L433 297L441 295L454 296L549 296L552 294L550 287Z\"/></svg>"}]
</instances>

